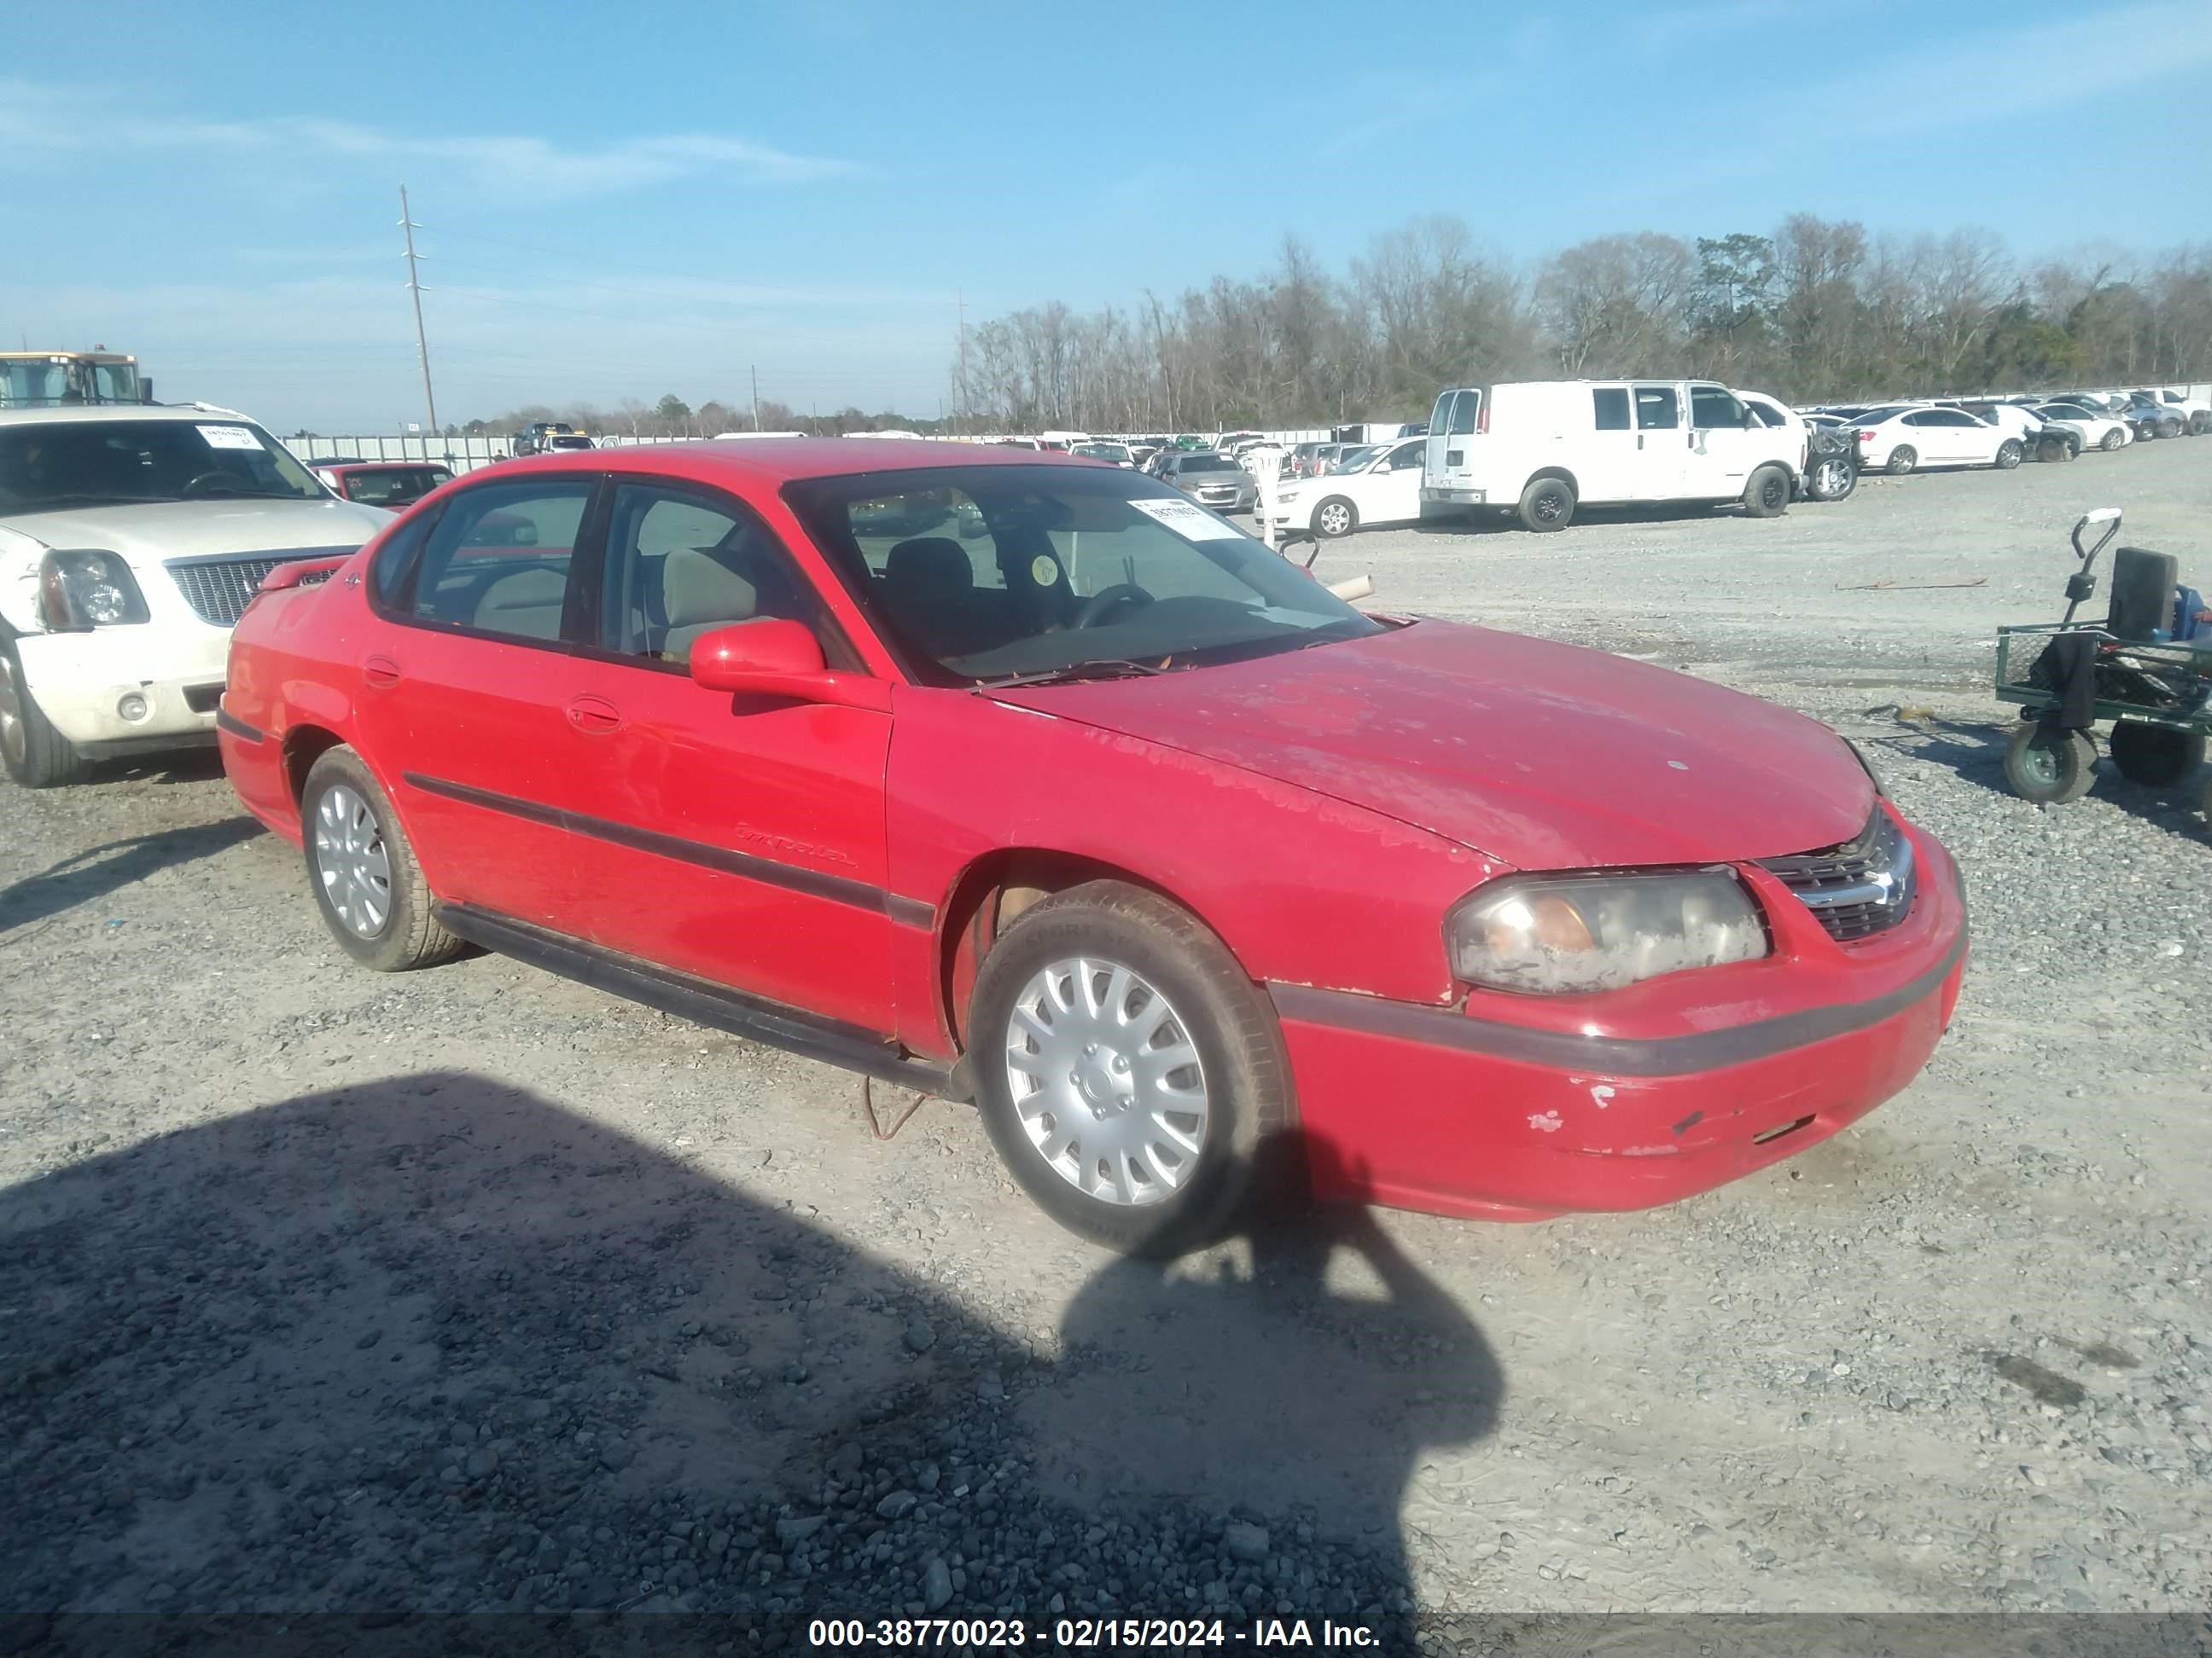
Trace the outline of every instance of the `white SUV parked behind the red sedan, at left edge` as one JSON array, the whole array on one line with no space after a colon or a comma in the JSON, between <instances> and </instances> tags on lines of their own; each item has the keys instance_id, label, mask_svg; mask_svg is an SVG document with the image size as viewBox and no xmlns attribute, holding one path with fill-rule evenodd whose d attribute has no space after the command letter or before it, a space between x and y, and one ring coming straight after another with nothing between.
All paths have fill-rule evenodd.
<instances>
[{"instance_id":1,"label":"white SUV parked behind the red sedan, at left edge","mask_svg":"<svg viewBox=\"0 0 2212 1658\"><path fill-rule=\"evenodd\" d=\"M0 758L33 789L215 741L230 626L288 559L392 522L243 416L0 411Z\"/></svg>"}]
</instances>

